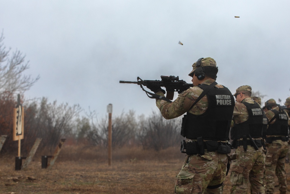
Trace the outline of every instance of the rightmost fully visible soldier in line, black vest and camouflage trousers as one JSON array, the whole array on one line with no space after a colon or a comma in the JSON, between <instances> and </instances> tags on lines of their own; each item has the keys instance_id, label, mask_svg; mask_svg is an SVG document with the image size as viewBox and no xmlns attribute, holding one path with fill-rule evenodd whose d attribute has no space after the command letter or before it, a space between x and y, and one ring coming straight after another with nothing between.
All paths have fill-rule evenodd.
<instances>
[{"instance_id":1,"label":"rightmost fully visible soldier in line, black vest and camouflage trousers","mask_svg":"<svg viewBox=\"0 0 290 194\"><path fill-rule=\"evenodd\" d=\"M287 193L287 180L285 172L285 156L289 152L287 143L288 136L288 114L283 111L274 99L269 99L263 107L269 120L269 127L266 133L268 143L266 163L265 163L265 189L267 194L274 192L274 175L279 180L279 191L281 194Z\"/></svg>"}]
</instances>

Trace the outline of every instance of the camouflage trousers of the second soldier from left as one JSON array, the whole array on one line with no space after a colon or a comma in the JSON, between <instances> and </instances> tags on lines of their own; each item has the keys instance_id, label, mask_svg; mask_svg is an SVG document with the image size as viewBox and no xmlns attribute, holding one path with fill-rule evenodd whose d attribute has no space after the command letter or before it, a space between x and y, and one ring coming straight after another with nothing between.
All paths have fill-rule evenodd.
<instances>
[{"instance_id":1,"label":"camouflage trousers of the second soldier from left","mask_svg":"<svg viewBox=\"0 0 290 194\"><path fill-rule=\"evenodd\" d=\"M247 193L250 182L251 193L264 194L265 154L263 147L255 150L248 145L245 152L243 146L239 146L235 153L239 155L239 159L233 160L231 164L231 193Z\"/></svg>"}]
</instances>

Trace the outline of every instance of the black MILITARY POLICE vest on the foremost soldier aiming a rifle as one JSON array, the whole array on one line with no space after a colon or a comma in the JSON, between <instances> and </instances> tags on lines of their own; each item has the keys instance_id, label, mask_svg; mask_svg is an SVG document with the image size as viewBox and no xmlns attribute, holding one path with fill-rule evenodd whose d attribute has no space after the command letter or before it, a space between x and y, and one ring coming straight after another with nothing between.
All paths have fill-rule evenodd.
<instances>
[{"instance_id":1,"label":"black MILITARY POLICE vest on the foremost soldier aiming a rifle","mask_svg":"<svg viewBox=\"0 0 290 194\"><path fill-rule=\"evenodd\" d=\"M208 85L198 87L203 90ZM182 119L181 135L189 139L202 137L203 140L229 139L235 100L228 88L213 87L206 94L209 106L202 115L187 112Z\"/></svg>"}]
</instances>

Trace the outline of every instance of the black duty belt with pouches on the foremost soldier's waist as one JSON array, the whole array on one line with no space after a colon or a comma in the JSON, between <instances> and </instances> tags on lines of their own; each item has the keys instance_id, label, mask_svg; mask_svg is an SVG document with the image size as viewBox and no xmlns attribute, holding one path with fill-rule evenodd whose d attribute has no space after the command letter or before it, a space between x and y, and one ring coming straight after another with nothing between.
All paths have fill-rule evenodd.
<instances>
[{"instance_id":1,"label":"black duty belt with pouches on the foremost soldier's waist","mask_svg":"<svg viewBox=\"0 0 290 194\"><path fill-rule=\"evenodd\" d=\"M187 155L204 155L205 149L208 152L218 151L218 153L221 154L229 154L231 152L231 146L229 145L229 143L222 143L218 141L199 142L198 140L186 143L185 140L181 141L180 151L182 153L186 153Z\"/></svg>"}]
</instances>

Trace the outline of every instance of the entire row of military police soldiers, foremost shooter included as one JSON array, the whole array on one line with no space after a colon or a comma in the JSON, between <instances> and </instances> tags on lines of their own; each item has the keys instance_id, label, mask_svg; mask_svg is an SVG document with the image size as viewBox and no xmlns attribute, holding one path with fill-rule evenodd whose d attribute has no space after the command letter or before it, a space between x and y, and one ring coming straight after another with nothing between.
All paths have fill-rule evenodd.
<instances>
[{"instance_id":1,"label":"entire row of military police soldiers, foremost shooter included","mask_svg":"<svg viewBox=\"0 0 290 194\"><path fill-rule=\"evenodd\" d=\"M189 76L193 87L181 92L173 102L164 100L166 92L160 86L146 86L157 96L156 106L164 118L186 113L181 127L186 139L180 148L186 158L176 176L174 193L222 193L231 164L231 193L247 193L249 183L251 193L273 193L276 173L280 193L285 194L287 113L274 99L261 108L258 100L251 98L252 88L247 85L232 95L216 82L218 67L211 57L198 59L192 67ZM285 105L289 104L288 98ZM234 149L239 158L231 160L229 154Z\"/></svg>"}]
</instances>

